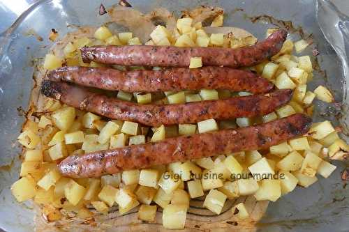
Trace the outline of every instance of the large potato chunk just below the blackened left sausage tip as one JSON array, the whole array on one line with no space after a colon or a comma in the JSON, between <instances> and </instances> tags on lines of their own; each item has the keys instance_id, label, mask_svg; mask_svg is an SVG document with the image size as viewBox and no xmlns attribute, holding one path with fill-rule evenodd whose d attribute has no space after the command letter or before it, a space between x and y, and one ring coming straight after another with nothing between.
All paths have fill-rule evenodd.
<instances>
[{"instance_id":1,"label":"large potato chunk just below the blackened left sausage tip","mask_svg":"<svg viewBox=\"0 0 349 232\"><path fill-rule=\"evenodd\" d=\"M68 130L75 119L75 109L73 107L64 107L57 109L52 114L52 121L60 130Z\"/></svg>"}]
</instances>

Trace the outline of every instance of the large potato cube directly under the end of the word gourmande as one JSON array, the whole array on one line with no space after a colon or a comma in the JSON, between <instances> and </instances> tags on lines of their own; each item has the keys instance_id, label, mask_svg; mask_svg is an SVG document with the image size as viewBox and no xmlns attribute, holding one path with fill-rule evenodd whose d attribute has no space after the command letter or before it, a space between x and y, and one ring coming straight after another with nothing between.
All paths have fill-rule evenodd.
<instances>
[{"instance_id":1,"label":"large potato cube directly under the end of the word gourmande","mask_svg":"<svg viewBox=\"0 0 349 232\"><path fill-rule=\"evenodd\" d=\"M257 201L276 201L281 196L281 181L265 179L260 180L260 187L255 192Z\"/></svg>"}]
</instances>

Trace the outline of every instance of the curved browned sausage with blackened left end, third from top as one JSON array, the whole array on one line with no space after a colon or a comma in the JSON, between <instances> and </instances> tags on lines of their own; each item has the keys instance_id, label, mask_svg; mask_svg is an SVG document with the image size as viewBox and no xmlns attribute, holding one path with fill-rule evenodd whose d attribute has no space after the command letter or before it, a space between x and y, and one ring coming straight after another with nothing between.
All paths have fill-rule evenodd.
<instances>
[{"instance_id":1,"label":"curved browned sausage with blackened left end, third from top","mask_svg":"<svg viewBox=\"0 0 349 232\"><path fill-rule=\"evenodd\" d=\"M249 95L225 100L208 100L173 105L138 105L66 82L43 81L41 93L66 105L94 112L107 118L159 126L197 123L208 118L218 120L269 114L292 98L292 90L277 90L264 95Z\"/></svg>"}]
</instances>

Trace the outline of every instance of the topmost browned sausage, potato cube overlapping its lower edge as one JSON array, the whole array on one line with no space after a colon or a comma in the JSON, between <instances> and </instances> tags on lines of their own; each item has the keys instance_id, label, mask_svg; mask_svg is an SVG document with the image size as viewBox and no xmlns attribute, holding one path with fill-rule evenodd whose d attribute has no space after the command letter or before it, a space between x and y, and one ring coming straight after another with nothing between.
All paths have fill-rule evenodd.
<instances>
[{"instance_id":1,"label":"topmost browned sausage, potato cube overlapping its lower edge","mask_svg":"<svg viewBox=\"0 0 349 232\"><path fill-rule=\"evenodd\" d=\"M117 65L147 65L161 67L188 67L193 56L202 57L203 65L239 68L258 64L277 54L285 41L287 31L275 31L266 40L251 47L237 49L221 47L173 46L94 46L82 47L84 62Z\"/></svg>"}]
</instances>

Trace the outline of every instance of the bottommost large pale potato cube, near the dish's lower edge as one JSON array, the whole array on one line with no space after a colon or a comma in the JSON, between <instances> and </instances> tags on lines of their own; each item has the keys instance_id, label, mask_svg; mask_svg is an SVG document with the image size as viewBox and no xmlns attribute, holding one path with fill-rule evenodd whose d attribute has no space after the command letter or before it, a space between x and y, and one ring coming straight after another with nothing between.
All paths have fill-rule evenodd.
<instances>
[{"instance_id":1,"label":"bottommost large pale potato cube, near the dish's lower edge","mask_svg":"<svg viewBox=\"0 0 349 232\"><path fill-rule=\"evenodd\" d=\"M166 229L184 229L186 224L186 206L170 204L163 209L163 227Z\"/></svg>"}]
</instances>

